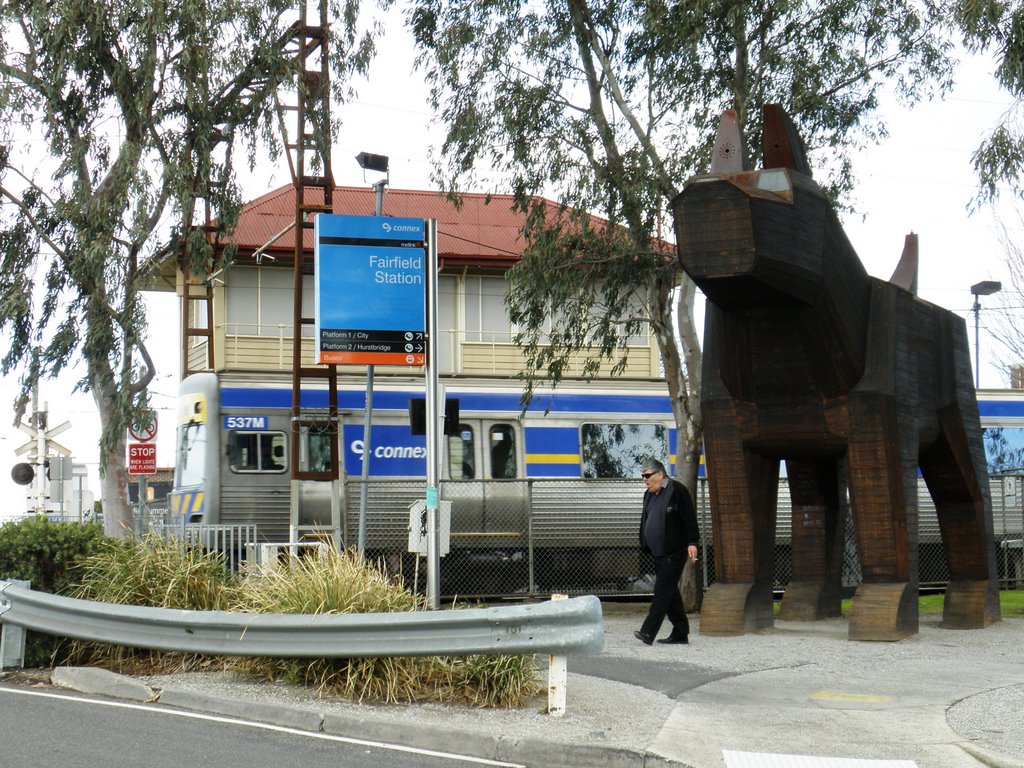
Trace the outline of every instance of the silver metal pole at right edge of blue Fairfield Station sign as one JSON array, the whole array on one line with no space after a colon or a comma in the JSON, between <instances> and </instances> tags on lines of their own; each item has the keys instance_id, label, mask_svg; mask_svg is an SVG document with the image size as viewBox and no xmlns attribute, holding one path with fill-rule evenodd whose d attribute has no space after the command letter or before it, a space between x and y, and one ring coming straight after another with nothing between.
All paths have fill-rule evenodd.
<instances>
[{"instance_id":1,"label":"silver metal pole at right edge of blue Fairfield Station sign","mask_svg":"<svg viewBox=\"0 0 1024 768\"><path fill-rule=\"evenodd\" d=\"M427 601L430 608L440 607L440 539L438 535L438 494L440 476L440 423L437 408L437 221L428 219L427 236L427 360L426 360L426 432L427 432Z\"/></svg>"}]
</instances>

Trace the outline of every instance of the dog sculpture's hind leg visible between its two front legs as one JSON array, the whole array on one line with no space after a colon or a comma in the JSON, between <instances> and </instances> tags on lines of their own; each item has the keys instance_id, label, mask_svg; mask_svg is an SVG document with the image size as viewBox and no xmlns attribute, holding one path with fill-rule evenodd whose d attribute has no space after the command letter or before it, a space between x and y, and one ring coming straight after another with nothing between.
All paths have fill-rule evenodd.
<instances>
[{"instance_id":1,"label":"dog sculpture's hind leg visible between its two front legs","mask_svg":"<svg viewBox=\"0 0 1024 768\"><path fill-rule=\"evenodd\" d=\"M779 618L813 622L842 615L846 484L840 460L787 459L793 501L793 572Z\"/></svg>"}]
</instances>

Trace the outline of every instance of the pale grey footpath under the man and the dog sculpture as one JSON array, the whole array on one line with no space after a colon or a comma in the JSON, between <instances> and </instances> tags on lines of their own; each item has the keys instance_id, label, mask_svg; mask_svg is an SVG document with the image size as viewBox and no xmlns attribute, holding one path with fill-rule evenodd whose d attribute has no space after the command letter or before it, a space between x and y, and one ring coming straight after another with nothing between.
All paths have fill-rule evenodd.
<instances>
[{"instance_id":1,"label":"pale grey footpath under the man and the dog sculpture","mask_svg":"<svg viewBox=\"0 0 1024 768\"><path fill-rule=\"evenodd\" d=\"M55 685L528 768L1021 768L1024 618L847 640L845 620L647 646L645 605L606 604L604 650L570 656L566 712L317 698L223 673L127 678L58 668ZM663 630L663 635L667 630ZM546 660L546 659L541 659Z\"/></svg>"}]
</instances>

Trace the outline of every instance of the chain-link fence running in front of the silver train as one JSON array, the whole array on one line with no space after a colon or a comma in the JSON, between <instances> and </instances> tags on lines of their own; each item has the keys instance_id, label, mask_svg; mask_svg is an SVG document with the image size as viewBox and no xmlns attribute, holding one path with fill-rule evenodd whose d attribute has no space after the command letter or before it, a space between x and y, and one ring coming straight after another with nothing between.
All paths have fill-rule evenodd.
<instances>
[{"instance_id":1,"label":"chain-link fence running in front of the silver train","mask_svg":"<svg viewBox=\"0 0 1024 768\"><path fill-rule=\"evenodd\" d=\"M422 525L410 507L422 498L422 483L368 480L366 547L392 572L419 591L425 586L423 558L409 553L411 526ZM356 541L361 480L346 484L345 539ZM525 597L552 593L646 596L653 584L652 559L640 552L638 527L643 486L634 480L535 479L446 481L440 498L452 503L447 554L440 559L445 597ZM919 578L922 587L949 579L935 506L919 483ZM991 479L993 537L1000 586L1024 587L1024 478ZM697 562L705 588L715 582L711 504L705 480L695 505L701 531ZM792 504L779 482L774 583L784 590L792 570ZM853 520L847 517L843 584L860 584ZM442 550L445 547L442 546Z\"/></svg>"}]
</instances>

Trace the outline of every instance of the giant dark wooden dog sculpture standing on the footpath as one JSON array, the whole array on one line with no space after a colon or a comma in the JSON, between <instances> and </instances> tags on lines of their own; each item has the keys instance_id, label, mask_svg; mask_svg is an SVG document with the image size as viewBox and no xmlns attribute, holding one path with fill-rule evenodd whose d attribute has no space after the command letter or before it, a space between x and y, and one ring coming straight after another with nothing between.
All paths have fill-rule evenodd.
<instances>
[{"instance_id":1,"label":"giant dark wooden dog sculpture standing on the footpath","mask_svg":"<svg viewBox=\"0 0 1024 768\"><path fill-rule=\"evenodd\" d=\"M923 301L916 236L871 278L811 178L790 117L764 111L765 168L723 115L712 173L673 202L679 261L708 299L702 416L716 582L700 633L770 627L779 462L793 500L780 617L840 615L852 515L852 640L918 632L918 469L949 567L942 624L999 620L991 502L967 329Z\"/></svg>"}]
</instances>

